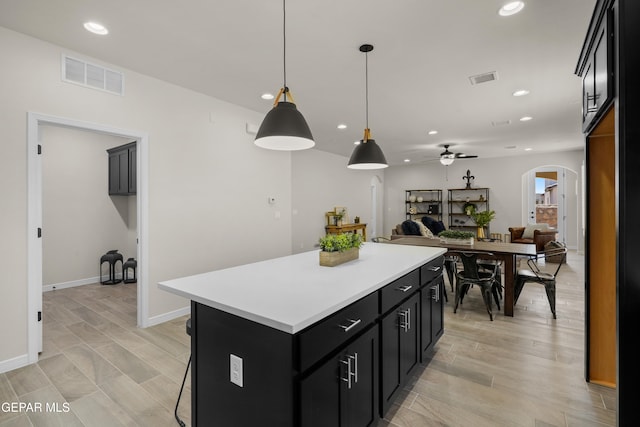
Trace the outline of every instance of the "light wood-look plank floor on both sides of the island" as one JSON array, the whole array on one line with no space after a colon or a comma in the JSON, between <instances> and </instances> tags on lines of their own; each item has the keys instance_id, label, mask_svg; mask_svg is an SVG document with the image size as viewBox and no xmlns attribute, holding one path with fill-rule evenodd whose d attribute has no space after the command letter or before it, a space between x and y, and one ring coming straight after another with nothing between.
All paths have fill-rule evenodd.
<instances>
[{"instance_id":1,"label":"light wood-look plank floor on both sides of the island","mask_svg":"<svg viewBox=\"0 0 640 427\"><path fill-rule=\"evenodd\" d=\"M615 390L584 381L584 258L569 254L553 320L528 284L514 317L493 322L471 289L426 369L378 427L615 426ZM69 412L0 411L0 427L177 426L173 409L189 358L187 316L136 323L135 284L47 292L37 364L0 374L0 402L58 402ZM179 414L190 425L190 381ZM233 426L225 426L233 427ZM277 426L266 426L277 427ZM332 427L332 426L327 426Z\"/></svg>"}]
</instances>

